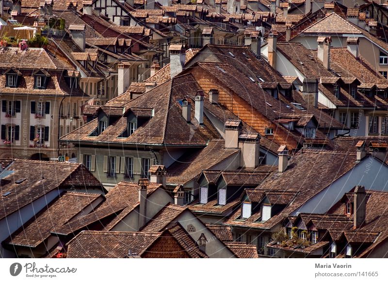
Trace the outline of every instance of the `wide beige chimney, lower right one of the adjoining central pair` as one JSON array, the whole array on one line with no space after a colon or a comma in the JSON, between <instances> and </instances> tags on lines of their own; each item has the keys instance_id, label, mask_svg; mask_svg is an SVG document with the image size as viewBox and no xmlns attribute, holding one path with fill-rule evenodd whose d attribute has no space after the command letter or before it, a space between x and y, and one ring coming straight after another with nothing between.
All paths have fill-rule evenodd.
<instances>
[{"instance_id":1,"label":"wide beige chimney, lower right one of the adjoining central pair","mask_svg":"<svg viewBox=\"0 0 388 282\"><path fill-rule=\"evenodd\" d=\"M239 136L241 148L240 165L255 168L260 164L260 135L259 133L242 133Z\"/></svg>"}]
</instances>

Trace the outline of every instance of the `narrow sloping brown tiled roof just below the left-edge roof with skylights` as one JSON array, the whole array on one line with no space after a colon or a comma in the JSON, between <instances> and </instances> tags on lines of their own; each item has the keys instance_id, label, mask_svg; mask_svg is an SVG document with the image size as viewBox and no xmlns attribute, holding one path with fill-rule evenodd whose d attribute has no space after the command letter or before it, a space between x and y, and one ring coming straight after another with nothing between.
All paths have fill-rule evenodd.
<instances>
[{"instance_id":1,"label":"narrow sloping brown tiled roof just below the left-edge roof with skylights","mask_svg":"<svg viewBox=\"0 0 388 282\"><path fill-rule=\"evenodd\" d=\"M5 242L15 246L35 248L49 238L50 231L55 231L56 228L65 224L98 197L102 196L100 194L65 192L58 199L52 201L47 208L23 224Z\"/></svg>"}]
</instances>

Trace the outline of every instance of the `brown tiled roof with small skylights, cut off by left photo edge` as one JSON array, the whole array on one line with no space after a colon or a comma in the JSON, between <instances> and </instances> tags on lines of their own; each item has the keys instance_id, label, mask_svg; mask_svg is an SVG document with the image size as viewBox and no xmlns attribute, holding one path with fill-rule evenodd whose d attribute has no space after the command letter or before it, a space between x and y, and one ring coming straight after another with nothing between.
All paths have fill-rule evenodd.
<instances>
[{"instance_id":1,"label":"brown tiled roof with small skylights, cut off by left photo edge","mask_svg":"<svg viewBox=\"0 0 388 282\"><path fill-rule=\"evenodd\" d=\"M2 179L1 191L11 194L1 198L0 219L64 184L71 187L72 181L77 186L102 190L100 182L81 164L15 160L5 169L13 173ZM22 178L26 180L15 183Z\"/></svg>"}]
</instances>

